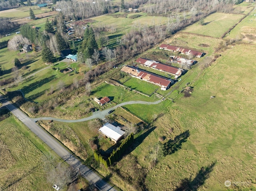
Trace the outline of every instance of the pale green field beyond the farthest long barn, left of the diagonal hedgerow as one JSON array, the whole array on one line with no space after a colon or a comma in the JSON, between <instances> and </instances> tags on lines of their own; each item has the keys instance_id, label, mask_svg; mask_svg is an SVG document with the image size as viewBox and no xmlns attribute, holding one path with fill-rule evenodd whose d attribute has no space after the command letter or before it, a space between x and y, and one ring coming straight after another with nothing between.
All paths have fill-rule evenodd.
<instances>
[{"instance_id":1,"label":"pale green field beyond the farthest long barn, left of the diagonal hedgerow","mask_svg":"<svg viewBox=\"0 0 256 191\"><path fill-rule=\"evenodd\" d=\"M190 32L212 37L221 37L224 32L236 24L244 15L214 13L204 19L206 25L200 25L199 22L186 27L182 32Z\"/></svg>"}]
</instances>

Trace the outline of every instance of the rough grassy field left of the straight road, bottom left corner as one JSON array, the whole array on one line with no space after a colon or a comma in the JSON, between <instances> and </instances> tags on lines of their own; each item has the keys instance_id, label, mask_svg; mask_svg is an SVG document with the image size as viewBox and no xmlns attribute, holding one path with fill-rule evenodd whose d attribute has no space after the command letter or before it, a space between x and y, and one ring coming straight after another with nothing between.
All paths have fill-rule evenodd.
<instances>
[{"instance_id":1,"label":"rough grassy field left of the straight road, bottom left corner","mask_svg":"<svg viewBox=\"0 0 256 191\"><path fill-rule=\"evenodd\" d=\"M39 150L35 146L38 142L32 143L20 129L28 132L14 117L0 122L1 190L51 190L52 184L47 183L46 171L42 167L46 160L46 153L42 152L44 146L40 146L42 150Z\"/></svg>"}]
</instances>

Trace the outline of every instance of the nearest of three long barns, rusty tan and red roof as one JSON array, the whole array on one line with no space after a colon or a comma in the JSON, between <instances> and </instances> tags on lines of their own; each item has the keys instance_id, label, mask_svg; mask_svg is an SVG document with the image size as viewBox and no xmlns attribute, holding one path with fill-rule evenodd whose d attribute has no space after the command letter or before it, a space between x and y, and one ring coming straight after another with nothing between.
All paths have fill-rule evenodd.
<instances>
[{"instance_id":1,"label":"nearest of three long barns, rusty tan and red roof","mask_svg":"<svg viewBox=\"0 0 256 191\"><path fill-rule=\"evenodd\" d=\"M133 67L133 66L124 66L121 69L122 72L130 74L132 77L150 82L152 84L158 85L161 87L161 90L166 90L174 84L174 80Z\"/></svg>"}]
</instances>

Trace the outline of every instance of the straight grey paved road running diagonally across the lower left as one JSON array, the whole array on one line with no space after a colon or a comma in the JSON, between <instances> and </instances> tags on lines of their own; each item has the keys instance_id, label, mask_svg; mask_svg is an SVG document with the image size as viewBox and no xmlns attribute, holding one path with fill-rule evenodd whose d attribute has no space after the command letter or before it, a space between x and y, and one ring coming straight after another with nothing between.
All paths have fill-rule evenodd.
<instances>
[{"instance_id":1,"label":"straight grey paved road running diagonally across the lower left","mask_svg":"<svg viewBox=\"0 0 256 191\"><path fill-rule=\"evenodd\" d=\"M47 144L58 156L71 165L76 172L78 168L80 169L81 175L86 178L88 181L96 184L96 186L101 191L116 191L111 185L106 183L103 179L100 178L94 171L92 171L86 165L83 165L82 162L72 155L66 148L57 142L57 140L50 136L46 131L44 131L40 126L38 126L33 120L31 120L26 114L24 114L20 109L16 108L11 102L6 100L3 95L0 94L0 102L3 106L6 106L10 112L19 120L24 123L38 138L40 138L45 144Z\"/></svg>"}]
</instances>

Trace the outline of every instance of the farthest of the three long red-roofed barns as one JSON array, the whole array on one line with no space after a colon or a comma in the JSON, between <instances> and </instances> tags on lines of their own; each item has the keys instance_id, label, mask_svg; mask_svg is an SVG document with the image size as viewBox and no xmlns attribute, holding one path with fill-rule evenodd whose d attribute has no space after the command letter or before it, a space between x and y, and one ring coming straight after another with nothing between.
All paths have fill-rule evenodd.
<instances>
[{"instance_id":1,"label":"farthest of the three long red-roofed barns","mask_svg":"<svg viewBox=\"0 0 256 191\"><path fill-rule=\"evenodd\" d=\"M162 44L159 48L168 50L168 51L172 51L172 52L180 52L180 53L186 54L186 55L192 55L192 56L198 57L198 58L205 55L205 53L203 53L203 52L198 52L195 50L190 50L190 49L176 47L176 46L167 45L167 44Z\"/></svg>"}]
</instances>

